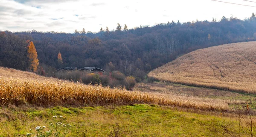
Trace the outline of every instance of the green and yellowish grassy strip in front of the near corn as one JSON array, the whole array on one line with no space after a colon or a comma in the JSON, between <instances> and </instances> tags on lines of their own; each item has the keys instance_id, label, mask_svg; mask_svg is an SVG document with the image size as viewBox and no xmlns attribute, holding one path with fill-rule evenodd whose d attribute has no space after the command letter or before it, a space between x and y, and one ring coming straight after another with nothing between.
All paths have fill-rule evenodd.
<instances>
[{"instance_id":1,"label":"green and yellowish grassy strip in front of the near corn","mask_svg":"<svg viewBox=\"0 0 256 137\"><path fill-rule=\"evenodd\" d=\"M25 136L36 126L49 127L52 116L63 116L73 127L68 136L106 137L118 131L120 137L216 137L228 136L223 126L230 125L238 131L236 117L225 117L217 112L195 113L195 110L180 111L155 105L106 106L81 108L40 108L16 107L0 108L0 136ZM209 114L215 113L215 114ZM253 123L255 130L255 124ZM246 128L241 136L247 136Z\"/></svg>"}]
</instances>

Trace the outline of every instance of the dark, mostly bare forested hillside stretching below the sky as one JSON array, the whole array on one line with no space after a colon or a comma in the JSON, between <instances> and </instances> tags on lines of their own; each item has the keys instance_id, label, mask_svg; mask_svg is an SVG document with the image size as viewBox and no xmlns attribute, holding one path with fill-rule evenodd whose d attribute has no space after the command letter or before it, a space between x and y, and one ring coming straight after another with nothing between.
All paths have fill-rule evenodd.
<instances>
[{"instance_id":1,"label":"dark, mostly bare forested hillside stretching below the sky","mask_svg":"<svg viewBox=\"0 0 256 137\"><path fill-rule=\"evenodd\" d=\"M222 17L221 21L168 22L97 33L0 32L0 66L29 68L26 40L33 41L39 60L48 75L59 67L93 66L121 71L143 79L146 73L177 56L209 46L256 40L256 17L246 20ZM61 31L61 30L60 30ZM58 53L62 62L58 61ZM40 71L40 69L39 69Z\"/></svg>"}]
</instances>

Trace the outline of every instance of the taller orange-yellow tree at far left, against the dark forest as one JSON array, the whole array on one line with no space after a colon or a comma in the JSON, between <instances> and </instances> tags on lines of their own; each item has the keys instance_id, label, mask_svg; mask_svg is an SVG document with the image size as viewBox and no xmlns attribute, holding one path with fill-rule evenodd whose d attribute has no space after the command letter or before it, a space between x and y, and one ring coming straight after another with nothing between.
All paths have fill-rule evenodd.
<instances>
[{"instance_id":1,"label":"taller orange-yellow tree at far left, against the dark forest","mask_svg":"<svg viewBox=\"0 0 256 137\"><path fill-rule=\"evenodd\" d=\"M35 49L34 43L31 41L28 41L28 56L29 56L29 62L31 63L29 66L29 69L33 72L36 72L38 70L39 60L37 58L37 52Z\"/></svg>"}]
</instances>

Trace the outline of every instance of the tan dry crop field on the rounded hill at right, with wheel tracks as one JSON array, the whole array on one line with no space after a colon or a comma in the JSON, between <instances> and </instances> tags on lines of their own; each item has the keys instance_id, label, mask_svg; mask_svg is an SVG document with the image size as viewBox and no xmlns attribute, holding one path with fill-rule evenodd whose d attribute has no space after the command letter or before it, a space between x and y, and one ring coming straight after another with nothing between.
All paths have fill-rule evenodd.
<instances>
[{"instance_id":1,"label":"tan dry crop field on the rounded hill at right, with wheel tracks","mask_svg":"<svg viewBox=\"0 0 256 137\"><path fill-rule=\"evenodd\" d=\"M256 42L199 49L148 76L171 83L256 94Z\"/></svg>"}]
</instances>

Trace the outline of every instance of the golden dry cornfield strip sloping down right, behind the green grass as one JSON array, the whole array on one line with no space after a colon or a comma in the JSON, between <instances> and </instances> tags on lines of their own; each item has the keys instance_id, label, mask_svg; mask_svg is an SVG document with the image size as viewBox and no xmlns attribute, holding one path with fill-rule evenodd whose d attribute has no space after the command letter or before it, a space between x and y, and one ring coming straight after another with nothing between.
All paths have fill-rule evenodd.
<instances>
[{"instance_id":1,"label":"golden dry cornfield strip sloping down right, behind the green grass","mask_svg":"<svg viewBox=\"0 0 256 137\"><path fill-rule=\"evenodd\" d=\"M37 106L104 106L127 104L158 104L201 110L229 109L226 100L126 91L118 88L84 85L30 72L0 67L0 105Z\"/></svg>"}]
</instances>

